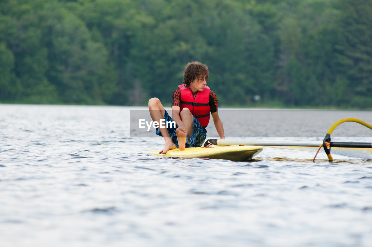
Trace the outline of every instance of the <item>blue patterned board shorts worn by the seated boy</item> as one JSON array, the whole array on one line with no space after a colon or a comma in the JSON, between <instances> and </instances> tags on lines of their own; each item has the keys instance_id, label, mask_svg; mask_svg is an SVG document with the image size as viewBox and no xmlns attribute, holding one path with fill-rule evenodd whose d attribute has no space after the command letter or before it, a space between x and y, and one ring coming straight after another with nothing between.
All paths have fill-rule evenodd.
<instances>
[{"instance_id":1,"label":"blue patterned board shorts worn by the seated boy","mask_svg":"<svg viewBox=\"0 0 372 247\"><path fill-rule=\"evenodd\" d=\"M168 112L165 111L164 113L164 119L166 122L172 122L173 119L169 116ZM176 135L176 129L178 126L176 125L176 128L173 128L173 126L168 126L167 130L169 133L170 138L172 139L173 143L176 144L176 147L178 148L178 141L177 141L177 135ZM160 133L159 128L156 128L156 134L163 136ZM194 117L193 127L192 127L192 135L189 139L186 137L186 145L185 147L201 147L203 145L205 138L207 137L207 134L203 127L200 125L199 121Z\"/></svg>"}]
</instances>

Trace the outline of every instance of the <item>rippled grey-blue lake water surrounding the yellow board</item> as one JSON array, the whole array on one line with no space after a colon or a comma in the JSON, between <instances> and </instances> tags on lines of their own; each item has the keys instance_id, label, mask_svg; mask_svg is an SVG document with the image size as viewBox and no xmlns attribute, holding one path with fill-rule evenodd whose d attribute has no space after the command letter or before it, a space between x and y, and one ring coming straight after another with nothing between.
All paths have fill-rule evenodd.
<instances>
[{"instance_id":1,"label":"rippled grey-blue lake water surrounding the yellow board","mask_svg":"<svg viewBox=\"0 0 372 247\"><path fill-rule=\"evenodd\" d=\"M153 157L141 151L163 139L131 135L131 110L145 108L0 104L1 246L372 245L370 160ZM219 112L227 137L322 140L341 118L372 123L371 111ZM345 123L334 136L372 130Z\"/></svg>"}]
</instances>

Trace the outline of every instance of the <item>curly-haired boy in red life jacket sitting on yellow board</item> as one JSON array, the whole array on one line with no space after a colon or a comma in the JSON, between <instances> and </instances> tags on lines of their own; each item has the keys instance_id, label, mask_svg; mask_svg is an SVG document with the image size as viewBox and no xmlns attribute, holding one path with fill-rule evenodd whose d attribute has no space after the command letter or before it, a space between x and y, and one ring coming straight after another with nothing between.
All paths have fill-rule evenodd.
<instances>
[{"instance_id":1,"label":"curly-haired boy in red life jacket sitting on yellow board","mask_svg":"<svg viewBox=\"0 0 372 247\"><path fill-rule=\"evenodd\" d=\"M168 150L186 147L200 147L206 138L206 126L209 123L209 112L212 113L214 125L220 139L225 139L224 127L218 116L216 95L206 86L208 67L201 62L189 62L183 72L183 84L172 94L172 117L158 98L148 101L148 109L153 121L176 122L176 128L157 128L156 134L164 137L164 147L159 154Z\"/></svg>"}]
</instances>

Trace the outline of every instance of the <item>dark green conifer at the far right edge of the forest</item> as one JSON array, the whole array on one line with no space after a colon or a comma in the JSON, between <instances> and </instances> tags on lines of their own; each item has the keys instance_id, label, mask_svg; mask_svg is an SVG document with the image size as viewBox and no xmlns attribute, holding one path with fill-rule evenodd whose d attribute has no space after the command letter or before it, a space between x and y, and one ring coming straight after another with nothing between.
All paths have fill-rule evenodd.
<instances>
[{"instance_id":1,"label":"dark green conifer at the far right edge of the forest","mask_svg":"<svg viewBox=\"0 0 372 247\"><path fill-rule=\"evenodd\" d=\"M339 29L341 44L337 46L337 70L347 81L345 100L351 106L372 105L372 2L340 1Z\"/></svg>"}]
</instances>

